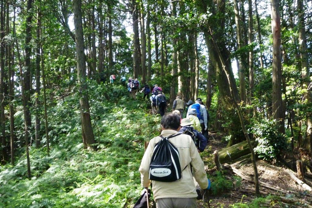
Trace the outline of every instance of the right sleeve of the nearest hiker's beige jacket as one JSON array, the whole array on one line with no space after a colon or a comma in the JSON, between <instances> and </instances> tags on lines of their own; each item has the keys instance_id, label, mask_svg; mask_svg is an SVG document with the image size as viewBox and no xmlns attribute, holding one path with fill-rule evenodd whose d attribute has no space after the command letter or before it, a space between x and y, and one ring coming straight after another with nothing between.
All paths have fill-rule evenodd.
<instances>
[{"instance_id":1,"label":"right sleeve of the nearest hiker's beige jacket","mask_svg":"<svg viewBox=\"0 0 312 208\"><path fill-rule=\"evenodd\" d=\"M204 167L204 162L202 162L202 158L200 158L194 142L191 143L190 151L192 158L191 164L193 168L193 176L195 177L195 180L199 186L202 189L206 189L208 187L208 179Z\"/></svg>"}]
</instances>

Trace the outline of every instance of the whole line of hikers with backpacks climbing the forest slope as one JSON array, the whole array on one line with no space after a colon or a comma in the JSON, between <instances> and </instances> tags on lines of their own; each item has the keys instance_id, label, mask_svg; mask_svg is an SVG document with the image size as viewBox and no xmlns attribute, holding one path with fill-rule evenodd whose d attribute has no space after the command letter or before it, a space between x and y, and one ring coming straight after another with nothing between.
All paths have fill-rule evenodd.
<instances>
[{"instance_id":1,"label":"whole line of hikers with backpacks climbing the forest slope","mask_svg":"<svg viewBox=\"0 0 312 208\"><path fill-rule=\"evenodd\" d=\"M110 80L114 83L115 75ZM120 84L126 84L125 76L120 78ZM197 207L196 200L202 199L201 189L206 189L209 182L199 155L209 136L209 114L202 99L185 103L178 95L173 111L165 114L167 99L160 86L155 84L150 89L144 85L141 89L138 79L129 77L127 88L133 99L138 92L144 93L143 100L149 98L152 114L162 116L162 132L149 141L139 167L141 185L148 188L152 183L157 208Z\"/></svg>"}]
</instances>

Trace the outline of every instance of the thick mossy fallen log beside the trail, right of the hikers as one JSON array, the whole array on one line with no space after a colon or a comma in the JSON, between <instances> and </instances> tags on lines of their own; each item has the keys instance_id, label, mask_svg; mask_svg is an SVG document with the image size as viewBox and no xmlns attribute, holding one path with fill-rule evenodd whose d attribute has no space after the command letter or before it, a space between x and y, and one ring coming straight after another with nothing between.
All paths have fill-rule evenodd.
<instances>
[{"instance_id":1,"label":"thick mossy fallen log beside the trail, right of the hikers","mask_svg":"<svg viewBox=\"0 0 312 208\"><path fill-rule=\"evenodd\" d=\"M256 141L251 141L251 145L256 147ZM219 160L221 164L232 163L235 159L250 153L247 141L234 144L231 147L219 150Z\"/></svg>"}]
</instances>

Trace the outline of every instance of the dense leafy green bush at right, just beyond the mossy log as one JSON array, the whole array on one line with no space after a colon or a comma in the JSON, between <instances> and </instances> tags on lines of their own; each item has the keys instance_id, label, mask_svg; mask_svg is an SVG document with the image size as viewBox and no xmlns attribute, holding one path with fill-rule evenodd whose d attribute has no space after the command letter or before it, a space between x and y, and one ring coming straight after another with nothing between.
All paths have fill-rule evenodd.
<instances>
[{"instance_id":1,"label":"dense leafy green bush at right, just beyond the mossy log","mask_svg":"<svg viewBox=\"0 0 312 208\"><path fill-rule=\"evenodd\" d=\"M253 133L258 142L255 152L258 157L273 161L280 157L281 152L286 149L285 136L278 132L276 121L270 119L253 120L251 124Z\"/></svg>"}]
</instances>

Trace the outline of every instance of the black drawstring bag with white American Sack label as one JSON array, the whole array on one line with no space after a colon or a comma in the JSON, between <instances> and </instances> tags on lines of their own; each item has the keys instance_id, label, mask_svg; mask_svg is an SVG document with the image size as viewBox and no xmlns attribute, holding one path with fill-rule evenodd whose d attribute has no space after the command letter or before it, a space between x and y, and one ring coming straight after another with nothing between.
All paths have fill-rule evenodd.
<instances>
[{"instance_id":1,"label":"black drawstring bag with white American Sack label","mask_svg":"<svg viewBox=\"0 0 312 208\"><path fill-rule=\"evenodd\" d=\"M149 165L149 179L153 181L172 182L181 178L181 166L178 149L169 142L170 137L162 137L154 147L153 156Z\"/></svg>"}]
</instances>

